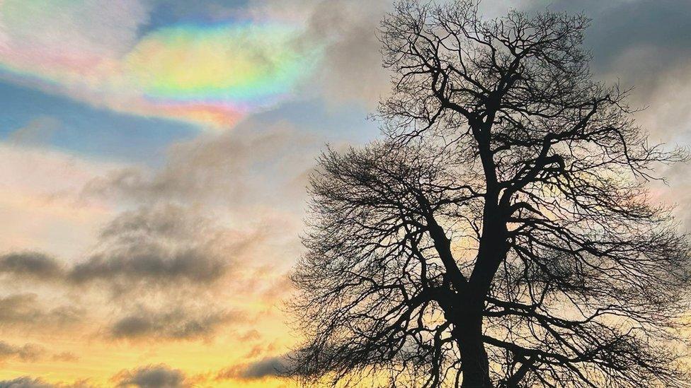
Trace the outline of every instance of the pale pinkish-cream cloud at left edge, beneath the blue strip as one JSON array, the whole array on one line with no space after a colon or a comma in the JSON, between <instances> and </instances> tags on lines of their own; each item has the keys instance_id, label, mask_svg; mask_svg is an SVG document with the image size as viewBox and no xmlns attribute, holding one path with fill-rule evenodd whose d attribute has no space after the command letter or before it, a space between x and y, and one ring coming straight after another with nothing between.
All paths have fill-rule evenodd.
<instances>
[{"instance_id":1,"label":"pale pinkish-cream cloud at left edge, beneath the blue strip","mask_svg":"<svg viewBox=\"0 0 691 388\"><path fill-rule=\"evenodd\" d=\"M112 209L105 201L79 201L79 192L104 170L118 167L0 142L0 255L51 252L72 257L84 252Z\"/></svg>"}]
</instances>

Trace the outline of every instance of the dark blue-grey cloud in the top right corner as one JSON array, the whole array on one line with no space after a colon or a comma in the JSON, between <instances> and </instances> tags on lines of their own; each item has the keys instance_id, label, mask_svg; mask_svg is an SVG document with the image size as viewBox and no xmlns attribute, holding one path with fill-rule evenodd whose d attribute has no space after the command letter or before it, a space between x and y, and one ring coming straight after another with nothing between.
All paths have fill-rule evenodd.
<instances>
[{"instance_id":1,"label":"dark blue-grey cloud in the top right corner","mask_svg":"<svg viewBox=\"0 0 691 388\"><path fill-rule=\"evenodd\" d=\"M593 52L593 70L636 86L641 98L673 81L670 74L687 69L691 59L691 1L539 0L523 7L585 13L592 19L585 45Z\"/></svg>"}]
</instances>

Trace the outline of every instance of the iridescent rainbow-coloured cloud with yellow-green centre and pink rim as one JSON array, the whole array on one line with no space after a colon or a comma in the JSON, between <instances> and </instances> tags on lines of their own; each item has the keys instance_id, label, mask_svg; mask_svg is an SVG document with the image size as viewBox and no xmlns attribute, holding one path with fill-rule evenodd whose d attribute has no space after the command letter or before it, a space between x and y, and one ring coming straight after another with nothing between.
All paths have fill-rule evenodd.
<instances>
[{"instance_id":1,"label":"iridescent rainbow-coloured cloud with yellow-green centre and pink rim","mask_svg":"<svg viewBox=\"0 0 691 388\"><path fill-rule=\"evenodd\" d=\"M137 0L0 2L0 77L222 128L286 98L319 57L297 44L294 23L176 23L139 36L148 12Z\"/></svg>"}]
</instances>

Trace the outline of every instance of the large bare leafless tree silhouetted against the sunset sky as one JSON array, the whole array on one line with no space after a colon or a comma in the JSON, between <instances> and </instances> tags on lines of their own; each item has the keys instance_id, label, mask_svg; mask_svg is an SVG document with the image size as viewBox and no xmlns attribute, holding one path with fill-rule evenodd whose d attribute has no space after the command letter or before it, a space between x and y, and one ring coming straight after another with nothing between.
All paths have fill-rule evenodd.
<instances>
[{"instance_id":1,"label":"large bare leafless tree silhouetted against the sunset sky","mask_svg":"<svg viewBox=\"0 0 691 388\"><path fill-rule=\"evenodd\" d=\"M646 182L627 91L593 81L588 20L399 2L384 139L312 177L292 307L305 382L690 387L690 248ZM382 378L388 382L382 382Z\"/></svg>"}]
</instances>

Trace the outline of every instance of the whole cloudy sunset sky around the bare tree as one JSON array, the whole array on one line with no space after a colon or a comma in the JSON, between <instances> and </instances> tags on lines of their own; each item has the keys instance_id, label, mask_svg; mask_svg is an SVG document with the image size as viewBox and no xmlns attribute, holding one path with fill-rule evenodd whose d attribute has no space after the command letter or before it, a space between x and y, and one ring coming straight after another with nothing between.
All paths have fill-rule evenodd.
<instances>
[{"instance_id":1,"label":"whole cloudy sunset sky around the bare tree","mask_svg":"<svg viewBox=\"0 0 691 388\"><path fill-rule=\"evenodd\" d=\"M379 136L389 7L0 0L0 387L291 387L307 176ZM691 146L690 1L510 7L586 13L595 77ZM660 172L691 229L691 167Z\"/></svg>"}]
</instances>

